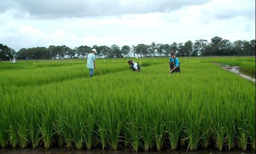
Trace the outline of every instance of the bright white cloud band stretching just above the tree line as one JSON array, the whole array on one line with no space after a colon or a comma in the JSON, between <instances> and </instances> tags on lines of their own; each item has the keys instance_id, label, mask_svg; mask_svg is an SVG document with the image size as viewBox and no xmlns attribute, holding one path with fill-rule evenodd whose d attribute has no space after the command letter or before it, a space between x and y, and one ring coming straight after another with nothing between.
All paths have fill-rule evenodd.
<instances>
[{"instance_id":1,"label":"bright white cloud band stretching just above the tree line","mask_svg":"<svg viewBox=\"0 0 256 154\"><path fill-rule=\"evenodd\" d=\"M121 2L124 6L128 3ZM30 19L29 13L16 19L13 14L19 10L8 10L0 13L0 43L19 50L49 45L75 48L151 42L171 44L196 39L210 41L214 36L231 42L249 41L255 39L253 4L252 0L212 0L168 12L59 19Z\"/></svg>"}]
</instances>

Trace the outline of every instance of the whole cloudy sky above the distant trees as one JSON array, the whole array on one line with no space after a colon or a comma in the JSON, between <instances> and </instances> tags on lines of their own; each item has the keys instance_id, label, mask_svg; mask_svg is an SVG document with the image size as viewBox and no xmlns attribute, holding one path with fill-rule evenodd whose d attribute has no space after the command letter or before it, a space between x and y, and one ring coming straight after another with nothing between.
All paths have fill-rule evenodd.
<instances>
[{"instance_id":1,"label":"whole cloudy sky above the distant trees","mask_svg":"<svg viewBox=\"0 0 256 154\"><path fill-rule=\"evenodd\" d=\"M21 48L255 39L255 0L1 0L0 43Z\"/></svg>"}]
</instances>

